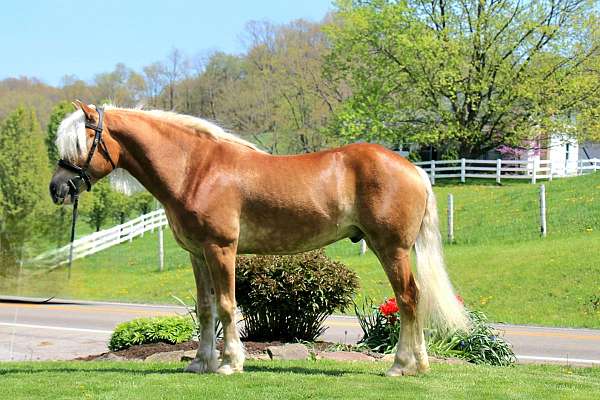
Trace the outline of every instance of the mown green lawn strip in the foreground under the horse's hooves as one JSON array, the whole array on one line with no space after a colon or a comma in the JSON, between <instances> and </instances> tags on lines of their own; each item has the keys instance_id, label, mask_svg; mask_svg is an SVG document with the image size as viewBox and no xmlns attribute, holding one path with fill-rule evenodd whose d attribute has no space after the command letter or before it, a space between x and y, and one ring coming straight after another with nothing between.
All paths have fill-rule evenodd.
<instances>
[{"instance_id":1,"label":"mown green lawn strip in the foreground under the horse's hooves","mask_svg":"<svg viewBox=\"0 0 600 400\"><path fill-rule=\"evenodd\" d=\"M386 378L387 363L256 362L229 377L181 372L180 363L0 363L3 399L593 399L600 368L434 365Z\"/></svg>"}]
</instances>

